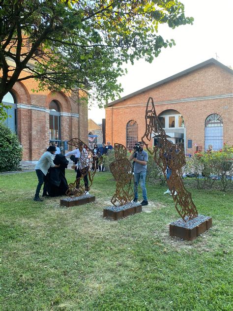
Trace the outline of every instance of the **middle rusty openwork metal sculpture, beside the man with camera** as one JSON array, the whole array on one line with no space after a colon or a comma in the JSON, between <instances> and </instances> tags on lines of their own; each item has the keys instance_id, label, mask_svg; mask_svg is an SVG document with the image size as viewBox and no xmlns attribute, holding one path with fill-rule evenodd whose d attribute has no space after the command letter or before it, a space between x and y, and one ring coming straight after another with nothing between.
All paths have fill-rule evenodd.
<instances>
[{"instance_id":1,"label":"middle rusty openwork metal sculpture, beside the man with camera","mask_svg":"<svg viewBox=\"0 0 233 311\"><path fill-rule=\"evenodd\" d=\"M131 186L133 177L132 167L129 160L126 158L127 152L123 145L114 144L114 151L116 161L110 164L110 171L117 182L117 189L111 202L115 206L122 206L129 203L134 197L133 188Z\"/></svg>"}]
</instances>

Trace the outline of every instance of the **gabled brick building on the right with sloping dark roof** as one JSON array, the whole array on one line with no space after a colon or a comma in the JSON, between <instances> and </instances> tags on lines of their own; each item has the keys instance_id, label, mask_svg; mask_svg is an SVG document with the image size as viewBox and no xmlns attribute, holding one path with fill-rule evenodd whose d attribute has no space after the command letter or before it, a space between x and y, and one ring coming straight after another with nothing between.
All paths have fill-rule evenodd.
<instances>
[{"instance_id":1,"label":"gabled brick building on the right with sloping dark roof","mask_svg":"<svg viewBox=\"0 0 233 311\"><path fill-rule=\"evenodd\" d=\"M109 103L106 140L128 149L141 140L149 96L168 139L184 142L186 153L233 144L233 70L221 62L207 60Z\"/></svg>"}]
</instances>

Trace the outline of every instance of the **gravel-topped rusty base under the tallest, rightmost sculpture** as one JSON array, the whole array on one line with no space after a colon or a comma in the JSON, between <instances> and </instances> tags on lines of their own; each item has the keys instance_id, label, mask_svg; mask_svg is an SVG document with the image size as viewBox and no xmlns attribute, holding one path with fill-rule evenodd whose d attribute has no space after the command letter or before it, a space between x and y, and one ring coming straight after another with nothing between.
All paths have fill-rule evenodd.
<instances>
[{"instance_id":1,"label":"gravel-topped rusty base under the tallest, rightmost sculpture","mask_svg":"<svg viewBox=\"0 0 233 311\"><path fill-rule=\"evenodd\" d=\"M170 235L192 241L210 227L212 227L212 218L209 216L198 215L186 222L180 218L170 223Z\"/></svg>"}]
</instances>

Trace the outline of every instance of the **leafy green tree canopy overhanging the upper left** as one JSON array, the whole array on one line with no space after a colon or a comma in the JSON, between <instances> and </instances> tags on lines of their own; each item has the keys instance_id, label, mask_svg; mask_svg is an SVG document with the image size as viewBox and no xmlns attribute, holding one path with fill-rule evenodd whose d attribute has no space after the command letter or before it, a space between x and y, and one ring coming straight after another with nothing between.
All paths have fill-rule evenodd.
<instances>
[{"instance_id":1,"label":"leafy green tree canopy overhanging the upper left","mask_svg":"<svg viewBox=\"0 0 233 311\"><path fill-rule=\"evenodd\" d=\"M39 89L90 90L105 103L121 91L123 62L152 62L175 44L159 24L192 22L178 0L0 0L0 102L35 78Z\"/></svg>"}]
</instances>

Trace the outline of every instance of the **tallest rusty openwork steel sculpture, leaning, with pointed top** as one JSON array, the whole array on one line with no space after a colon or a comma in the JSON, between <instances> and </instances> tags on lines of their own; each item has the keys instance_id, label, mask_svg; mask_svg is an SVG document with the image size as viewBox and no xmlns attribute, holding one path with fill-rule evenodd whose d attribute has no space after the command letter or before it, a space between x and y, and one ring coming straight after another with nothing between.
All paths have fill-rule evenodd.
<instances>
[{"instance_id":1,"label":"tallest rusty openwork steel sculpture, leaning, with pointed top","mask_svg":"<svg viewBox=\"0 0 233 311\"><path fill-rule=\"evenodd\" d=\"M149 108L149 104L152 105ZM153 151L148 149L144 138L150 141L152 132L158 139L159 144ZM184 187L181 179L181 168L185 165L183 144L173 144L168 141L165 130L162 128L156 115L153 98L149 97L146 105L146 132L142 137L146 149L154 154L154 161L162 169L168 187L175 201L175 208L184 221L198 216L197 208L192 201L191 193ZM171 176L167 178L167 167L171 170Z\"/></svg>"}]
</instances>

